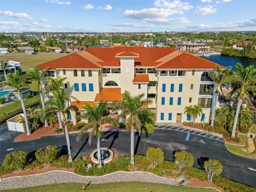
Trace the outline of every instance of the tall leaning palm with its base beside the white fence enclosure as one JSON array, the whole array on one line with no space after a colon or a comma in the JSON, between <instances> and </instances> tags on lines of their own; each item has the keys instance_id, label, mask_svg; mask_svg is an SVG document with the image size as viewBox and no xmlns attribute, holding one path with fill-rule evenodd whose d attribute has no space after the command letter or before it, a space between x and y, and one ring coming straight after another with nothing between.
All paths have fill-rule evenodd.
<instances>
[{"instance_id":1,"label":"tall leaning palm with its base beside the white fence enclosure","mask_svg":"<svg viewBox=\"0 0 256 192\"><path fill-rule=\"evenodd\" d=\"M13 90L9 93L9 95L11 95L15 90L18 91L19 100L21 102L21 107L22 107L23 114L24 114L27 135L29 136L31 133L30 133L30 130L29 130L27 111L26 111L26 106L25 106L24 100L22 98L22 94L20 92L20 89L22 87L28 87L29 84L31 84L30 78L28 77L28 75L21 75L20 76L17 72L15 74L8 74L7 75L7 80L8 81L5 81L5 82L1 83L1 85L9 85L9 86L13 87Z\"/></svg>"}]
</instances>

